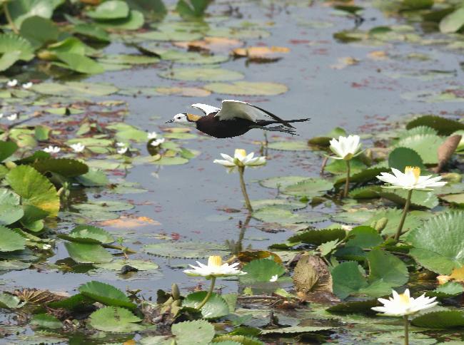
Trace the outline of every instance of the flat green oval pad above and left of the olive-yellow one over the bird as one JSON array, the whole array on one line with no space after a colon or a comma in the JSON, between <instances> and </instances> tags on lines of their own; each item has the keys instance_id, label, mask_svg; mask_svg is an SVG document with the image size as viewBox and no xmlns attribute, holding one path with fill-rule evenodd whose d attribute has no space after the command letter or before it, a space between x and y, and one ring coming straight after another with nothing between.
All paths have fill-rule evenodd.
<instances>
[{"instance_id":1,"label":"flat green oval pad above and left of the olive-yellow one over the bird","mask_svg":"<svg viewBox=\"0 0 464 345\"><path fill-rule=\"evenodd\" d=\"M158 73L159 76L178 81L236 81L243 74L224 68L171 68Z\"/></svg>"}]
</instances>

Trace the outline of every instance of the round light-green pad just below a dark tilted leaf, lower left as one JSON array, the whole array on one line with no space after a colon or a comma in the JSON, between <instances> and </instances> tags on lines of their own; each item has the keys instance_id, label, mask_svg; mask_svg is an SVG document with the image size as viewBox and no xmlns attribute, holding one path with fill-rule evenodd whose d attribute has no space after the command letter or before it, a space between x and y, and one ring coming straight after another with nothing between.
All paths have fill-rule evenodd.
<instances>
[{"instance_id":1,"label":"round light-green pad just below a dark tilted leaf, lower left","mask_svg":"<svg viewBox=\"0 0 464 345\"><path fill-rule=\"evenodd\" d=\"M90 324L99 331L132 333L142 327L136 322L141 321L131 311L119 307L104 307L90 315Z\"/></svg>"}]
</instances>

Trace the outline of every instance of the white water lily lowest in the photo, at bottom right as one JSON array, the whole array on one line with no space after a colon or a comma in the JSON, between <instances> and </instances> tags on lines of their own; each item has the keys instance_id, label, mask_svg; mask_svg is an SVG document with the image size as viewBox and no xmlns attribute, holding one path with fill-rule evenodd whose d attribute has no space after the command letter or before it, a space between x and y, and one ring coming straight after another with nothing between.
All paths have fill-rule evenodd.
<instances>
[{"instance_id":1,"label":"white water lily lowest in the photo, at bottom right","mask_svg":"<svg viewBox=\"0 0 464 345\"><path fill-rule=\"evenodd\" d=\"M406 289L404 294L398 294L393 290L393 298L379 298L378 302L382 303L383 307L373 307L372 309L383 313L385 316L405 316L435 307L438 304L438 302L433 302L435 298L425 297L425 294L423 294L414 299L410 297L409 289Z\"/></svg>"}]
</instances>

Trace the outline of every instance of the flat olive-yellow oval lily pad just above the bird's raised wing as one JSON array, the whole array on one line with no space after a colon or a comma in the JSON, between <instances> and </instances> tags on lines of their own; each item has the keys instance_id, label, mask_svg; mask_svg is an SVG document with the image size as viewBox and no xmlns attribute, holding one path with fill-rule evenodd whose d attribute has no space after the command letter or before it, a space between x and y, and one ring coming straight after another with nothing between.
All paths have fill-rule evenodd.
<instances>
[{"instance_id":1,"label":"flat olive-yellow oval lily pad just above the bird's raised wing","mask_svg":"<svg viewBox=\"0 0 464 345\"><path fill-rule=\"evenodd\" d=\"M286 93L288 87L281 83L236 81L234 83L208 83L206 90L236 96L274 96Z\"/></svg>"}]
</instances>

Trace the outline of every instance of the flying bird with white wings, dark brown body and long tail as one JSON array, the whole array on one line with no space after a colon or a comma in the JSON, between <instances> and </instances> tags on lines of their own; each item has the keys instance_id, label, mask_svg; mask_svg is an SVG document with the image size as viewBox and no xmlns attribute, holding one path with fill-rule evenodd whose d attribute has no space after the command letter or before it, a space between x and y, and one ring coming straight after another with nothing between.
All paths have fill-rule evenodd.
<instances>
[{"instance_id":1,"label":"flying bird with white wings, dark brown body and long tail","mask_svg":"<svg viewBox=\"0 0 464 345\"><path fill-rule=\"evenodd\" d=\"M290 123L309 120L309 118L283 120L263 108L242 101L224 100L222 108L202 103L191 106L200 109L205 115L179 113L166 123L188 125L215 138L233 138L253 128L295 135L296 129ZM273 126L267 127L268 125Z\"/></svg>"}]
</instances>

